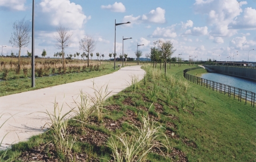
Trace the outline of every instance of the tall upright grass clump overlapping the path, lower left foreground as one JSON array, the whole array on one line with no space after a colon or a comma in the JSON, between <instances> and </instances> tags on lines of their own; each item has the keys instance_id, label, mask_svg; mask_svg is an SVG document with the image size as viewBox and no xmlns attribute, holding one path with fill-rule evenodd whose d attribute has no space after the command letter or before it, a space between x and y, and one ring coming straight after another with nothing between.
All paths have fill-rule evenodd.
<instances>
[{"instance_id":1,"label":"tall upright grass clump overlapping the path, lower left foreground","mask_svg":"<svg viewBox=\"0 0 256 162\"><path fill-rule=\"evenodd\" d=\"M59 108L58 103L54 102L54 112L51 114L48 110L44 112L50 117L51 123L46 123L43 128L48 125L50 128L48 131L52 132L53 142L59 154L64 153L65 155L70 155L71 149L73 148L73 144L75 142L75 137L70 136L68 132L68 118L70 117L70 111L66 112L66 114L62 115L61 111L63 108L63 104L61 108Z\"/></svg>"}]
</instances>

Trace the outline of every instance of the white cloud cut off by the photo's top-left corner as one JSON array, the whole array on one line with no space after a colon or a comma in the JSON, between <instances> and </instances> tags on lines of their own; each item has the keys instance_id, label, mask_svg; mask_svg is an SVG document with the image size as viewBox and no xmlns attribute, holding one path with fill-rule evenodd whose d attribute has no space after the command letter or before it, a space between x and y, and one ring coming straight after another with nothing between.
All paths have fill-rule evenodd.
<instances>
[{"instance_id":1,"label":"white cloud cut off by the photo's top-left corner","mask_svg":"<svg viewBox=\"0 0 256 162\"><path fill-rule=\"evenodd\" d=\"M25 11L25 2L26 0L1 0L0 9L4 8L9 10Z\"/></svg>"}]
</instances>

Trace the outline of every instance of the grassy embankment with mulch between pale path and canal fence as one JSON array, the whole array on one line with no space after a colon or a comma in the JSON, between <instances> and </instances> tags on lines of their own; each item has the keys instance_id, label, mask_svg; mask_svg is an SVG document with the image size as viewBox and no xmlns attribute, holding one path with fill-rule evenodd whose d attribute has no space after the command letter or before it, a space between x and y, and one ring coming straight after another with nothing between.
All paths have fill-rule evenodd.
<instances>
[{"instance_id":1,"label":"grassy embankment with mulch between pale path and canal fence","mask_svg":"<svg viewBox=\"0 0 256 162\"><path fill-rule=\"evenodd\" d=\"M170 75L165 77L159 70L147 67L145 79L140 83L134 82L131 87L107 100L108 106L102 109L107 114L94 112L83 124L70 120L69 136L75 135L76 141L69 154L75 158L82 153L87 155L87 160L95 160L95 157L100 157L101 161L109 160L113 151L107 147L113 142L111 134L114 141L124 137L122 133L126 133L129 139L136 130L132 125L140 125L143 119L141 114L149 113L151 118L159 122L158 125L162 125L158 132L165 134L169 141L166 142L164 136L151 141L154 149L146 156L149 161L255 161L256 109L227 95L187 82L182 78L182 70L186 68L191 66L171 67L171 70L167 70ZM97 119L100 119L99 122ZM100 134L91 134L93 131ZM97 143L97 136L106 140ZM41 144L45 147L38 152L43 152L47 157L58 157L63 161L70 159L63 150L50 152L50 146L47 146L50 141L54 143L51 131L32 137L28 142L15 144L7 155L14 156L15 161L24 160L26 158L21 155L26 155L27 151L29 158L33 150L38 150L35 146ZM162 142L171 151L155 144L156 141ZM58 145L58 142L54 144ZM117 143L119 149L121 145L121 142Z\"/></svg>"}]
</instances>

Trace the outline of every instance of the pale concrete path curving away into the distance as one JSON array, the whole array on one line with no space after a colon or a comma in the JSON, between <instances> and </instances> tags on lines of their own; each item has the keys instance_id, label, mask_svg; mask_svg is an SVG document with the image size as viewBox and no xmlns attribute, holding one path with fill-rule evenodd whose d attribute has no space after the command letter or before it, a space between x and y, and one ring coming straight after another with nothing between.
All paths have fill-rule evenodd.
<instances>
[{"instance_id":1,"label":"pale concrete path curving away into the distance","mask_svg":"<svg viewBox=\"0 0 256 162\"><path fill-rule=\"evenodd\" d=\"M131 83L131 76L138 76L139 80L145 75L145 71L141 66L124 67L120 70L100 76L97 78L86 79L79 82L68 83L40 90L23 92L0 97L0 141L4 137L1 148L4 149L12 143L28 140L29 137L46 131L42 127L50 118L43 112L54 110L54 100L58 102L59 107L63 103L62 114L68 112L70 107L74 107L74 100L82 90L85 94L94 95L93 82L99 88L108 85L109 96L117 94L124 90ZM69 107L69 106L70 107Z\"/></svg>"}]
</instances>

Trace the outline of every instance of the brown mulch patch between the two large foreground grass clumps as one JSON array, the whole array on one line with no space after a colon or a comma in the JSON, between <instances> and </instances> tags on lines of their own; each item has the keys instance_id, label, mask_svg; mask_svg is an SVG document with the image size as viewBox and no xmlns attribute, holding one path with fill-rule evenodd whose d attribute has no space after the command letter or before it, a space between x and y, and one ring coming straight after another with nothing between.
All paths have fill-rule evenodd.
<instances>
[{"instance_id":1,"label":"brown mulch patch between the two large foreground grass clumps","mask_svg":"<svg viewBox=\"0 0 256 162\"><path fill-rule=\"evenodd\" d=\"M87 142L93 145L101 146L105 145L108 135L99 131L95 131L93 129L84 127L83 131L85 135L77 136L77 138L82 142Z\"/></svg>"}]
</instances>

